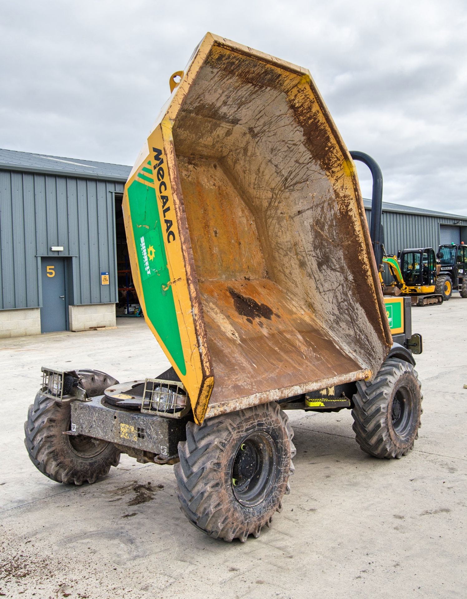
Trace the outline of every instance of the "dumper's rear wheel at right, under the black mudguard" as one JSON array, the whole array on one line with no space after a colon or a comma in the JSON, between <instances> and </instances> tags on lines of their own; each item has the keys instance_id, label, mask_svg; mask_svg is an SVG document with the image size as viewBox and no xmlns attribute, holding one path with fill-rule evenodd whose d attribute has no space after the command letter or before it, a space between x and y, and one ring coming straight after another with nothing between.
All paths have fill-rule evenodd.
<instances>
[{"instance_id":1,"label":"dumper's rear wheel at right, under the black mudguard","mask_svg":"<svg viewBox=\"0 0 467 599\"><path fill-rule=\"evenodd\" d=\"M401 458L413 449L420 428L423 395L411 364L383 363L373 382L357 382L353 430L360 448L377 458Z\"/></svg>"}]
</instances>

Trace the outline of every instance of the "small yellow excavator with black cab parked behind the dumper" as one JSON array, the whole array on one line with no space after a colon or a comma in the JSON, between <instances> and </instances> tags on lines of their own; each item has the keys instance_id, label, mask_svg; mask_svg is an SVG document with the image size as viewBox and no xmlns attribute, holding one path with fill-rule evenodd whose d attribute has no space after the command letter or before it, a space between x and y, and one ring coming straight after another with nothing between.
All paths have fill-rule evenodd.
<instances>
[{"instance_id":1,"label":"small yellow excavator with black cab parked behind the dumper","mask_svg":"<svg viewBox=\"0 0 467 599\"><path fill-rule=\"evenodd\" d=\"M386 285L381 271L387 264L393 281ZM397 256L383 253L380 282L384 295L410 295L413 305L442 304L443 296L435 293L439 266L432 247L402 250Z\"/></svg>"}]
</instances>

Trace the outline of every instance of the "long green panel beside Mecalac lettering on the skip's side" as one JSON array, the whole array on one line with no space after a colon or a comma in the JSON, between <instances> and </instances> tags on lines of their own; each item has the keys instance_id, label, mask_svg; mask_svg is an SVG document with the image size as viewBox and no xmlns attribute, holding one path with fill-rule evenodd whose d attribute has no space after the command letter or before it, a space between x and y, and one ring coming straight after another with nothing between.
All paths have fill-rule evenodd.
<instances>
[{"instance_id":1,"label":"long green panel beside Mecalac lettering on the skip's side","mask_svg":"<svg viewBox=\"0 0 467 599\"><path fill-rule=\"evenodd\" d=\"M133 181L128 187L128 202L146 316L184 375L186 365L178 331L174 294L171 285L168 285L170 276L157 210L156 190L140 181Z\"/></svg>"}]
</instances>

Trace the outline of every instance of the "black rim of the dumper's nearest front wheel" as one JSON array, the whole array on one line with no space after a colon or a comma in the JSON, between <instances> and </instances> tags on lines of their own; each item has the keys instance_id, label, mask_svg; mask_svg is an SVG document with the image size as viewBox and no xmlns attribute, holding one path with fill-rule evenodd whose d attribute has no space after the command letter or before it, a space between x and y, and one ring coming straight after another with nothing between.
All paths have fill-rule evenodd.
<instances>
[{"instance_id":1,"label":"black rim of the dumper's nearest front wheel","mask_svg":"<svg viewBox=\"0 0 467 599\"><path fill-rule=\"evenodd\" d=\"M257 506L277 478L277 447L267 432L253 432L239 444L232 464L232 489L242 506Z\"/></svg>"}]
</instances>

